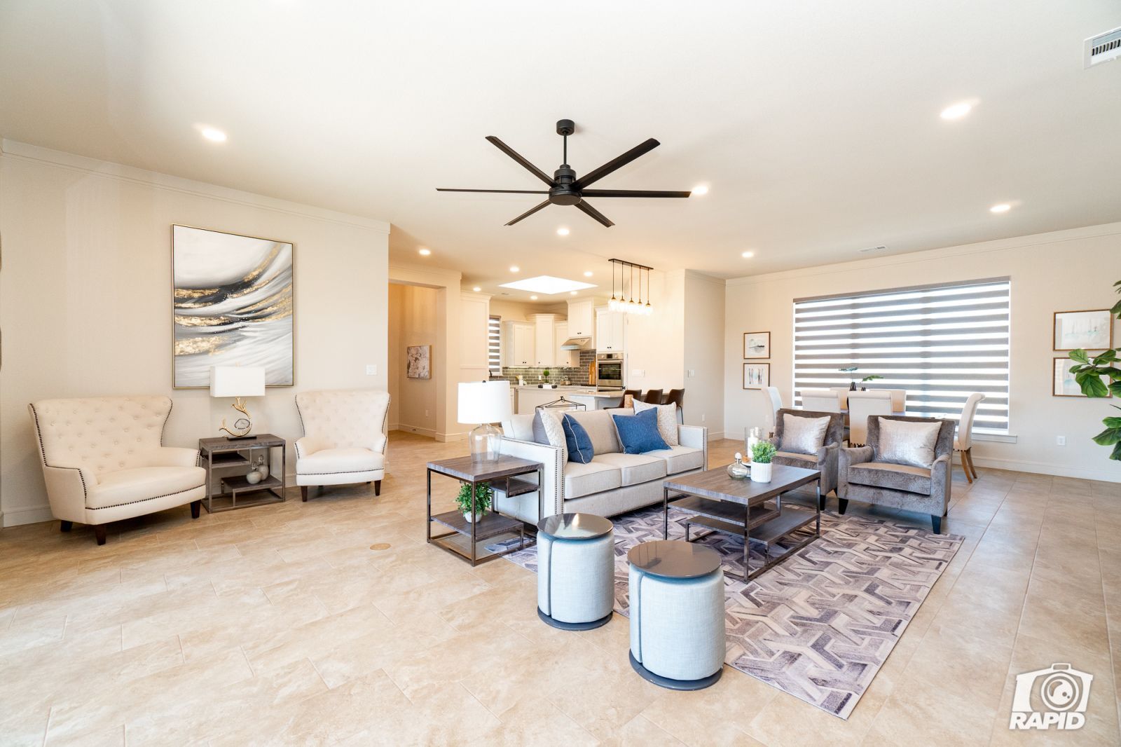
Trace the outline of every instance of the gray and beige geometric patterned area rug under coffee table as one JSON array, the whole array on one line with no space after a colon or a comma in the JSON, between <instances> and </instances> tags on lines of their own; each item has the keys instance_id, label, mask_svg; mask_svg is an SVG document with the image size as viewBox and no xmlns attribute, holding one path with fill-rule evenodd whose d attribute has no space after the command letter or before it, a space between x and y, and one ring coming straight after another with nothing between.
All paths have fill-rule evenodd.
<instances>
[{"instance_id":1,"label":"gray and beige geometric patterned area rug under coffee table","mask_svg":"<svg viewBox=\"0 0 1121 747\"><path fill-rule=\"evenodd\" d=\"M687 514L671 511L669 538L684 540ZM617 516L615 611L627 615L627 553L661 538L661 509ZM798 535L789 544L797 544ZM963 537L858 516L822 514L822 537L750 583L725 575L728 656L741 672L847 719L860 697L954 557ZM743 541L698 541L743 572ZM778 550L772 550L778 553ZM537 548L507 559L537 571ZM762 562L752 543L751 566Z\"/></svg>"}]
</instances>

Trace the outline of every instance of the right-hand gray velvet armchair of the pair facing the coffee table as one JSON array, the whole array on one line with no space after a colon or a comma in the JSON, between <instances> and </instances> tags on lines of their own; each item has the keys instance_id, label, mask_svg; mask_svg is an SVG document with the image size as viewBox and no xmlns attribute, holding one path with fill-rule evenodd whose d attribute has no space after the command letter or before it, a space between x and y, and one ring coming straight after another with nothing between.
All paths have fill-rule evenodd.
<instances>
[{"instance_id":1,"label":"right-hand gray velvet armchair of the pair facing the coffee table","mask_svg":"<svg viewBox=\"0 0 1121 747\"><path fill-rule=\"evenodd\" d=\"M929 469L879 460L880 421L941 423ZM951 468L954 454L954 422L900 415L868 418L868 445L842 449L837 470L837 507L844 514L850 500L890 506L930 515L935 534L949 508Z\"/></svg>"}]
</instances>

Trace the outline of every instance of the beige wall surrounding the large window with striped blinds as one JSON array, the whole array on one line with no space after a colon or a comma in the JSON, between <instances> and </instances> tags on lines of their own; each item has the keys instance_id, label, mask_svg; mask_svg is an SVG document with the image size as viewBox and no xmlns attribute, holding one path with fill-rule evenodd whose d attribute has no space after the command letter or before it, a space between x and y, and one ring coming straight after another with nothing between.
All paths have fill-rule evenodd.
<instances>
[{"instance_id":1,"label":"beige wall surrounding the large window with striped blinds","mask_svg":"<svg viewBox=\"0 0 1121 747\"><path fill-rule=\"evenodd\" d=\"M765 400L742 389L743 332L770 330L771 384L790 403L795 298L992 277L1011 278L1010 433L979 442L982 467L1121 481L1121 463L1090 441L1117 411L1105 399L1051 396L1056 311L1109 308L1121 280L1121 223L867 259L728 282L724 334L725 431L763 425ZM1114 345L1121 325L1114 330ZM1066 446L1056 436L1066 436Z\"/></svg>"}]
</instances>

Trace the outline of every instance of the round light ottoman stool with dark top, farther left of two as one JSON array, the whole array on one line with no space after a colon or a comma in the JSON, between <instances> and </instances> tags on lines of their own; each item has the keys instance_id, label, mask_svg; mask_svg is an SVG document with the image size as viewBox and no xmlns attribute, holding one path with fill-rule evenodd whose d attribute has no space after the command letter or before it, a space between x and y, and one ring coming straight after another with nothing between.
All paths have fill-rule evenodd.
<instances>
[{"instance_id":1,"label":"round light ottoman stool with dark top, farther left of two","mask_svg":"<svg viewBox=\"0 0 1121 747\"><path fill-rule=\"evenodd\" d=\"M558 514L537 524L537 616L555 628L606 625L615 602L615 537L594 514Z\"/></svg>"}]
</instances>

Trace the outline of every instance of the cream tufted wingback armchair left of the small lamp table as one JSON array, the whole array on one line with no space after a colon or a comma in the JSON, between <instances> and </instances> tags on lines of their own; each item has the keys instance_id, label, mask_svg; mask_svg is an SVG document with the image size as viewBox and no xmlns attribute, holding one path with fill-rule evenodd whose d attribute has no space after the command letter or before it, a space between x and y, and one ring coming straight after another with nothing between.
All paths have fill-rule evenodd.
<instances>
[{"instance_id":1,"label":"cream tufted wingback armchair left of the small lamp table","mask_svg":"<svg viewBox=\"0 0 1121 747\"><path fill-rule=\"evenodd\" d=\"M40 399L28 406L39 441L50 513L63 532L191 504L198 518L206 470L197 449L163 445L168 397Z\"/></svg>"}]
</instances>

